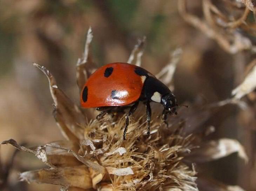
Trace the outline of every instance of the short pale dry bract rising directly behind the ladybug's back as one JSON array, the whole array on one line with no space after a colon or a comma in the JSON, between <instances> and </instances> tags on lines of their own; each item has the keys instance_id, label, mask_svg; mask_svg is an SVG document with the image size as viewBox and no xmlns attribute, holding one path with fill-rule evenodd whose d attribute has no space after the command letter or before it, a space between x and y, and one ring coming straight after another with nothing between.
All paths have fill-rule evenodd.
<instances>
[{"instance_id":1,"label":"short pale dry bract rising directly behind the ladybug's back","mask_svg":"<svg viewBox=\"0 0 256 191\"><path fill-rule=\"evenodd\" d=\"M138 39L138 43L134 46L127 63L134 64L136 66L141 66L141 57L143 55L145 42L145 36L142 39Z\"/></svg>"}]
</instances>

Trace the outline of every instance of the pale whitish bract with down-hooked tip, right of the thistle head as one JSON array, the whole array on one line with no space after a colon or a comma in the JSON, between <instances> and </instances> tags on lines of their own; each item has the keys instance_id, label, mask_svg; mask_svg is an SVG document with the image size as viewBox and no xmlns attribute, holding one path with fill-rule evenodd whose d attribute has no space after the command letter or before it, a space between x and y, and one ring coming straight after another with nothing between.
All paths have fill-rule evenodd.
<instances>
[{"instance_id":1,"label":"pale whitish bract with down-hooked tip, right of the thistle head","mask_svg":"<svg viewBox=\"0 0 256 191\"><path fill-rule=\"evenodd\" d=\"M208 162L228 156L238 152L245 162L248 162L248 156L245 153L244 147L234 139L219 139L211 140L194 149L193 152L187 154L188 159L193 162Z\"/></svg>"}]
</instances>

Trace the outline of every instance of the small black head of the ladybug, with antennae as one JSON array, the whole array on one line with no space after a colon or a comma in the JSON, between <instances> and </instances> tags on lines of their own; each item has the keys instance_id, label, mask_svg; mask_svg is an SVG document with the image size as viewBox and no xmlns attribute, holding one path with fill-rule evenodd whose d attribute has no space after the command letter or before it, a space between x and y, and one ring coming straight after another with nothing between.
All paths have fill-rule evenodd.
<instances>
[{"instance_id":1,"label":"small black head of the ladybug, with antennae","mask_svg":"<svg viewBox=\"0 0 256 191\"><path fill-rule=\"evenodd\" d=\"M161 97L161 104L168 113L177 115L176 107L178 106L176 97L172 94L166 94Z\"/></svg>"}]
</instances>

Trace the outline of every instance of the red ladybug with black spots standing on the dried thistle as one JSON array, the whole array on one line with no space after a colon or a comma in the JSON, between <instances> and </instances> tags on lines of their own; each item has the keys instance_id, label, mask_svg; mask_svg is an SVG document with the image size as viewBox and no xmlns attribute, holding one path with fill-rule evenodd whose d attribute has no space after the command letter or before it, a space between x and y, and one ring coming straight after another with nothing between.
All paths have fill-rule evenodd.
<instances>
[{"instance_id":1,"label":"red ladybug with black spots standing on the dried thistle","mask_svg":"<svg viewBox=\"0 0 256 191\"><path fill-rule=\"evenodd\" d=\"M97 108L103 111L102 113L121 106L129 106L123 132L124 140L129 118L140 101L146 105L148 135L151 120L150 102L162 104L164 123L167 114L177 115L178 106L174 94L166 85L146 69L128 63L110 63L97 69L83 86L80 101L83 108Z\"/></svg>"}]
</instances>

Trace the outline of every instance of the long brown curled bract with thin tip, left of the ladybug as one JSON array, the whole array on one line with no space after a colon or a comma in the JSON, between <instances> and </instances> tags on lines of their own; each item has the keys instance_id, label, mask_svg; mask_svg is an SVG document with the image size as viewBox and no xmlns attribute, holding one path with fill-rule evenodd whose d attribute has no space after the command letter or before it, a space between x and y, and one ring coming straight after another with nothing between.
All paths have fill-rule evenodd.
<instances>
[{"instance_id":1,"label":"long brown curled bract with thin tip, left of the ladybug","mask_svg":"<svg viewBox=\"0 0 256 191\"><path fill-rule=\"evenodd\" d=\"M79 107L58 88L53 75L45 67L35 63L33 65L39 68L48 78L50 92L55 105L54 117L62 128L62 133L64 133L66 135L65 137L69 140L75 141L74 139L77 139L76 141L78 141L82 139L83 129L78 124L85 124L85 116Z\"/></svg>"}]
</instances>

